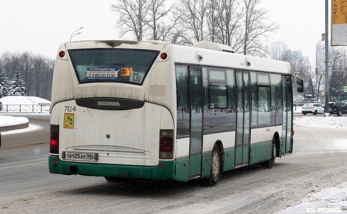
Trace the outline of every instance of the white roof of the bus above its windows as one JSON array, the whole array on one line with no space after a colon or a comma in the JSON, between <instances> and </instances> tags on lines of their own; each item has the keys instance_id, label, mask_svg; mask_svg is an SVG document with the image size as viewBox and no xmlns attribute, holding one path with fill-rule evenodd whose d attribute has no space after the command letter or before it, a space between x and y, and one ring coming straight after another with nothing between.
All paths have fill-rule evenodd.
<instances>
[{"instance_id":1,"label":"white roof of the bus above its windows","mask_svg":"<svg viewBox=\"0 0 347 214\"><path fill-rule=\"evenodd\" d=\"M148 42L122 40L78 41L61 44L61 46L63 45L66 49L132 48L162 51L164 48L166 48L174 51L174 54L172 55L174 55L176 63L229 67L243 70L270 71L282 74L291 74L292 76L294 76L293 72L290 69L289 62L252 57L249 55L225 51L211 50L208 49L209 47L196 48L191 46L174 45L168 42L154 40ZM198 55L202 57L201 60L198 59Z\"/></svg>"}]
</instances>

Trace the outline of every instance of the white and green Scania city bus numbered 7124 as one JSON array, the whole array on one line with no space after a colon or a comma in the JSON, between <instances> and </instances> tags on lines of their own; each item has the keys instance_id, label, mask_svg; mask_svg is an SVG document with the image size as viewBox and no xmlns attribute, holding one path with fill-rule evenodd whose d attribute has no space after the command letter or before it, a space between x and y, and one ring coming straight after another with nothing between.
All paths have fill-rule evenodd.
<instances>
[{"instance_id":1,"label":"white and green Scania city bus numbered 7124","mask_svg":"<svg viewBox=\"0 0 347 214\"><path fill-rule=\"evenodd\" d=\"M201 179L293 152L288 62L230 46L80 41L59 47L53 72L50 173Z\"/></svg>"}]
</instances>

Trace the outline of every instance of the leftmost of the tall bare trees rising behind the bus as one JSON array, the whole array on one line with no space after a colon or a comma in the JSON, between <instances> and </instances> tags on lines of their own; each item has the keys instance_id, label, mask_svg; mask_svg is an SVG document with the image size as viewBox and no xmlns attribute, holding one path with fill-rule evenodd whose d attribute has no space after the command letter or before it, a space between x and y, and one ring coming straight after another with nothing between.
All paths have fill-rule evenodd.
<instances>
[{"instance_id":1,"label":"leftmost of the tall bare trees rising behind the bus","mask_svg":"<svg viewBox=\"0 0 347 214\"><path fill-rule=\"evenodd\" d=\"M146 0L118 0L118 3L111 4L110 9L118 14L118 24L115 27L120 29L120 35L130 32L137 41L142 41L150 22Z\"/></svg>"}]
</instances>

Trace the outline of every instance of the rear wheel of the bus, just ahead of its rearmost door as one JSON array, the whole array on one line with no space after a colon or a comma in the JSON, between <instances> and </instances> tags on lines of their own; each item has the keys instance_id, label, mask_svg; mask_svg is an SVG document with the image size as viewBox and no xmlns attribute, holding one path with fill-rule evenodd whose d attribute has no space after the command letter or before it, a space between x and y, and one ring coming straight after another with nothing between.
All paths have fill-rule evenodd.
<instances>
[{"instance_id":1,"label":"rear wheel of the bus, just ahead of its rearmost door","mask_svg":"<svg viewBox=\"0 0 347 214\"><path fill-rule=\"evenodd\" d=\"M208 186L216 186L221 172L221 155L217 144L213 145L211 157L211 174L208 177Z\"/></svg>"}]
</instances>

